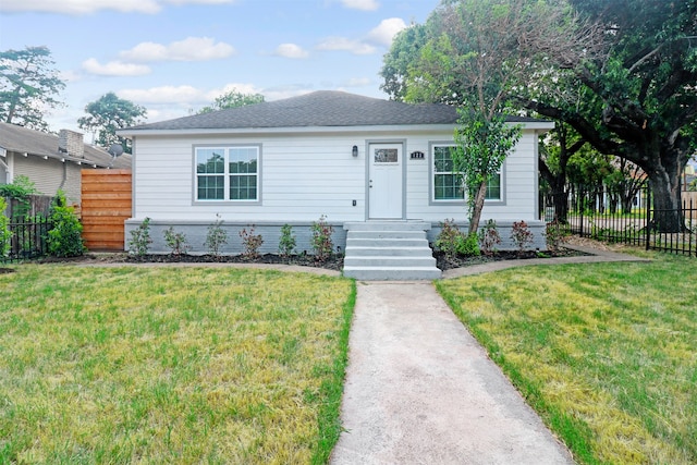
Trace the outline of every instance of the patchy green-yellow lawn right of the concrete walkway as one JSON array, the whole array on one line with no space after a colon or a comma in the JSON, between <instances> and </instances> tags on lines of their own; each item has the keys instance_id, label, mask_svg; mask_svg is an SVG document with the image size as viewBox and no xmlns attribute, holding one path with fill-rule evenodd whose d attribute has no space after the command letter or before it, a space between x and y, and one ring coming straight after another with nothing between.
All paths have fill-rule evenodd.
<instances>
[{"instance_id":1,"label":"patchy green-yellow lawn right of the concrete walkway","mask_svg":"<svg viewBox=\"0 0 697 465\"><path fill-rule=\"evenodd\" d=\"M697 260L650 257L437 283L579 463L697 463Z\"/></svg>"}]
</instances>

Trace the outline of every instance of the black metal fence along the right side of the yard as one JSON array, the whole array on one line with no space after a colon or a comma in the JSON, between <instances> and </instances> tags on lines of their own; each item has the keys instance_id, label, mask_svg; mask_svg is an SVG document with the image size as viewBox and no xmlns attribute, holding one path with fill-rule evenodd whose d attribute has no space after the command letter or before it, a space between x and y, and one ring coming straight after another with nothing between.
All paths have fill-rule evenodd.
<instances>
[{"instance_id":1,"label":"black metal fence along the right side of the yard","mask_svg":"<svg viewBox=\"0 0 697 465\"><path fill-rule=\"evenodd\" d=\"M545 220L566 224L572 234L697 257L697 193L683 193L680 210L653 208L648 187L619 192L607 187L568 186L542 196ZM681 232L662 232L661 218L678 215Z\"/></svg>"}]
</instances>

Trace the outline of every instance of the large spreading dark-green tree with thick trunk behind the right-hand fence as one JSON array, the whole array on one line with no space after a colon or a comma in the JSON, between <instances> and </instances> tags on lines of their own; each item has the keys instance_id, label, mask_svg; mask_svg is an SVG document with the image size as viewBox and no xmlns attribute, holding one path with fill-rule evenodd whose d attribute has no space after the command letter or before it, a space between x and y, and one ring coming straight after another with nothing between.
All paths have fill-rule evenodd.
<instances>
[{"instance_id":1,"label":"large spreading dark-green tree with thick trunk behind the right-hand fence","mask_svg":"<svg viewBox=\"0 0 697 465\"><path fill-rule=\"evenodd\" d=\"M659 212L656 225L665 232L681 231L680 179L697 147L697 0L488 1L499 8L523 2L563 14L529 16L530 27L549 23L549 19L559 27L542 29L555 30L555 36L518 36L513 57L523 60L506 61L502 72L522 69L524 73L514 73L504 99L565 122L596 150L640 167ZM443 0L420 27L432 34L447 8L469 8L468 3ZM494 15L491 22L500 23L501 19ZM440 30L451 40L458 37L456 29ZM391 50L386 58L390 68L383 68L383 89L400 98L409 95L409 86L419 85L412 76L421 70L408 64L399 68L406 61L395 58L414 47L404 47L399 40L394 46L402 49ZM466 54L456 54L453 60L457 57ZM440 101L450 102L464 91L466 83L456 69L444 71L429 75L433 79L429 88L440 94ZM398 94L394 83L403 83L406 89Z\"/></svg>"}]
</instances>

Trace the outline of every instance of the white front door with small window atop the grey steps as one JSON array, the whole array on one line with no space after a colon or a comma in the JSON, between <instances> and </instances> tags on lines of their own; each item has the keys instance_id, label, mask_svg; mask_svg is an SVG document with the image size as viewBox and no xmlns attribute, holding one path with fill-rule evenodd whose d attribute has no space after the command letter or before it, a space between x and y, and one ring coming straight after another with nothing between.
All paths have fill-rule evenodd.
<instances>
[{"instance_id":1,"label":"white front door with small window atop the grey steps","mask_svg":"<svg viewBox=\"0 0 697 465\"><path fill-rule=\"evenodd\" d=\"M369 217L402 219L402 145L370 144Z\"/></svg>"}]
</instances>

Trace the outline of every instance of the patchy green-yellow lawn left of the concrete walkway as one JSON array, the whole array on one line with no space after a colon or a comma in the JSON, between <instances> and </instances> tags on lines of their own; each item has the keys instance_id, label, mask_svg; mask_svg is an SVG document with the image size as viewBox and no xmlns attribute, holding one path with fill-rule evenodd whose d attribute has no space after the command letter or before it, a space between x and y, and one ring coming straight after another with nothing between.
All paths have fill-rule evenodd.
<instances>
[{"instance_id":1,"label":"patchy green-yellow lawn left of the concrete walkway","mask_svg":"<svg viewBox=\"0 0 697 465\"><path fill-rule=\"evenodd\" d=\"M327 462L352 281L14 269L0 274L0 464Z\"/></svg>"}]
</instances>

